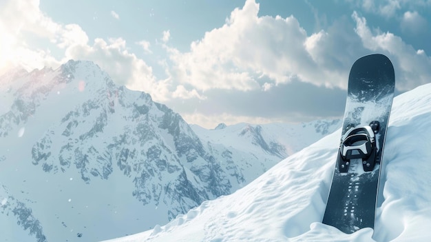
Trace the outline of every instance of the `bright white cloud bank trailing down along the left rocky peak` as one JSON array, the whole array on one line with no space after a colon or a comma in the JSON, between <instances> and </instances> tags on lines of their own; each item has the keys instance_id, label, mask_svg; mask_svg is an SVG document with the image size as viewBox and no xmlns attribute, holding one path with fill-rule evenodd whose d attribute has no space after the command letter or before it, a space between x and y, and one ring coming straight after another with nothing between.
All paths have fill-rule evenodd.
<instances>
[{"instance_id":1,"label":"bright white cloud bank trailing down along the left rocky peak","mask_svg":"<svg viewBox=\"0 0 431 242\"><path fill-rule=\"evenodd\" d=\"M44 66L56 68L68 59L85 59L100 65L119 85L149 92L158 101L169 97L167 81L156 81L152 68L136 54L129 52L124 39L95 39L90 45L87 34L80 26L56 23L41 12L37 0L8 1L0 9L0 14L0 68L12 65L21 65L28 70ZM118 17L114 11L111 14ZM63 50L63 57L56 59L49 49L32 48L25 42L17 41L24 32L48 39L59 50ZM149 42L140 41L138 44L149 51Z\"/></svg>"}]
</instances>

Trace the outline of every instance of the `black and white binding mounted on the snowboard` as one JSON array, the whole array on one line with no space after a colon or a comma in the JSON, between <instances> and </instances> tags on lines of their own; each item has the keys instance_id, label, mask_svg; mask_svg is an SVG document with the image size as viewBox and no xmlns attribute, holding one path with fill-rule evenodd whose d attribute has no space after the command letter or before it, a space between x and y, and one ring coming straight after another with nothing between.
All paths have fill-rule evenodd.
<instances>
[{"instance_id":1,"label":"black and white binding mounted on the snowboard","mask_svg":"<svg viewBox=\"0 0 431 242\"><path fill-rule=\"evenodd\" d=\"M365 172L370 172L375 166L377 153L375 134L379 132L379 121L372 121L370 125L350 128L341 137L338 152L338 169L340 173L348 172L351 159L362 159Z\"/></svg>"}]
</instances>

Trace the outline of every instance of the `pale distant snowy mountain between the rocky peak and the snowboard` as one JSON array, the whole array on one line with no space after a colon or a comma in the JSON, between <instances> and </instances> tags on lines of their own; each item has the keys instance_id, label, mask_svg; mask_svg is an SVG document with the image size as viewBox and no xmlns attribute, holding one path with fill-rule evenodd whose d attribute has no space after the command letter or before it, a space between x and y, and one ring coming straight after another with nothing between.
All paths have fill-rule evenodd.
<instances>
[{"instance_id":1,"label":"pale distant snowy mountain between the rocky peak and the snowboard","mask_svg":"<svg viewBox=\"0 0 431 242\"><path fill-rule=\"evenodd\" d=\"M191 129L203 143L222 144L229 149L255 152L264 150L284 159L341 127L341 120L317 120L308 123L267 123L253 125L220 123L214 130L198 125Z\"/></svg>"}]
</instances>

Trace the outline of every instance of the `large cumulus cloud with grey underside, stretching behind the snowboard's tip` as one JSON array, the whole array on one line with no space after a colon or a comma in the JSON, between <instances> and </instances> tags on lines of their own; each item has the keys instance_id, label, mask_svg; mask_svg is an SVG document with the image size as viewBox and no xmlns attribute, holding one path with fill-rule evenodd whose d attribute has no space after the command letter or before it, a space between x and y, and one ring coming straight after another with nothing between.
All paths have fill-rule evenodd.
<instances>
[{"instance_id":1,"label":"large cumulus cloud with grey underside, stretching behind the snowboard's tip","mask_svg":"<svg viewBox=\"0 0 431 242\"><path fill-rule=\"evenodd\" d=\"M398 90L429 81L430 58L423 50L414 50L395 34L370 28L357 12L336 19L325 30L307 34L295 17L259 17L258 10L255 1L246 1L242 9L233 10L224 26L191 43L188 52L165 46L172 62L171 78L207 98L187 105L193 110L183 109L186 120L207 123L208 128L220 120L239 121L233 117L260 123L264 122L261 117L271 121L334 117L344 108L335 103L345 98L342 90L346 89L351 65L373 52L386 54L394 63ZM389 14L389 7L386 11ZM310 97L319 98L311 101ZM322 106L337 108L332 114L328 108L324 112L315 108ZM286 109L289 111L284 112Z\"/></svg>"}]
</instances>

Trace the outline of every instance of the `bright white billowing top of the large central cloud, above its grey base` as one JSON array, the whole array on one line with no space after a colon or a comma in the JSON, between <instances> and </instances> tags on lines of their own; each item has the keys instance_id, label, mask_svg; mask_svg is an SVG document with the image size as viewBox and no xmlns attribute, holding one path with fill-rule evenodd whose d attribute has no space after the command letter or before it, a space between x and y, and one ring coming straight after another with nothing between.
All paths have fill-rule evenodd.
<instances>
[{"instance_id":1,"label":"bright white billowing top of the large central cloud, above its grey base","mask_svg":"<svg viewBox=\"0 0 431 242\"><path fill-rule=\"evenodd\" d=\"M326 69L319 47L338 43L337 39L324 31L308 37L293 16L258 17L258 12L259 4L246 1L242 9L231 12L224 26L191 43L189 52L167 47L173 78L200 91L256 90L293 78L328 87L345 81L343 71Z\"/></svg>"}]
</instances>

